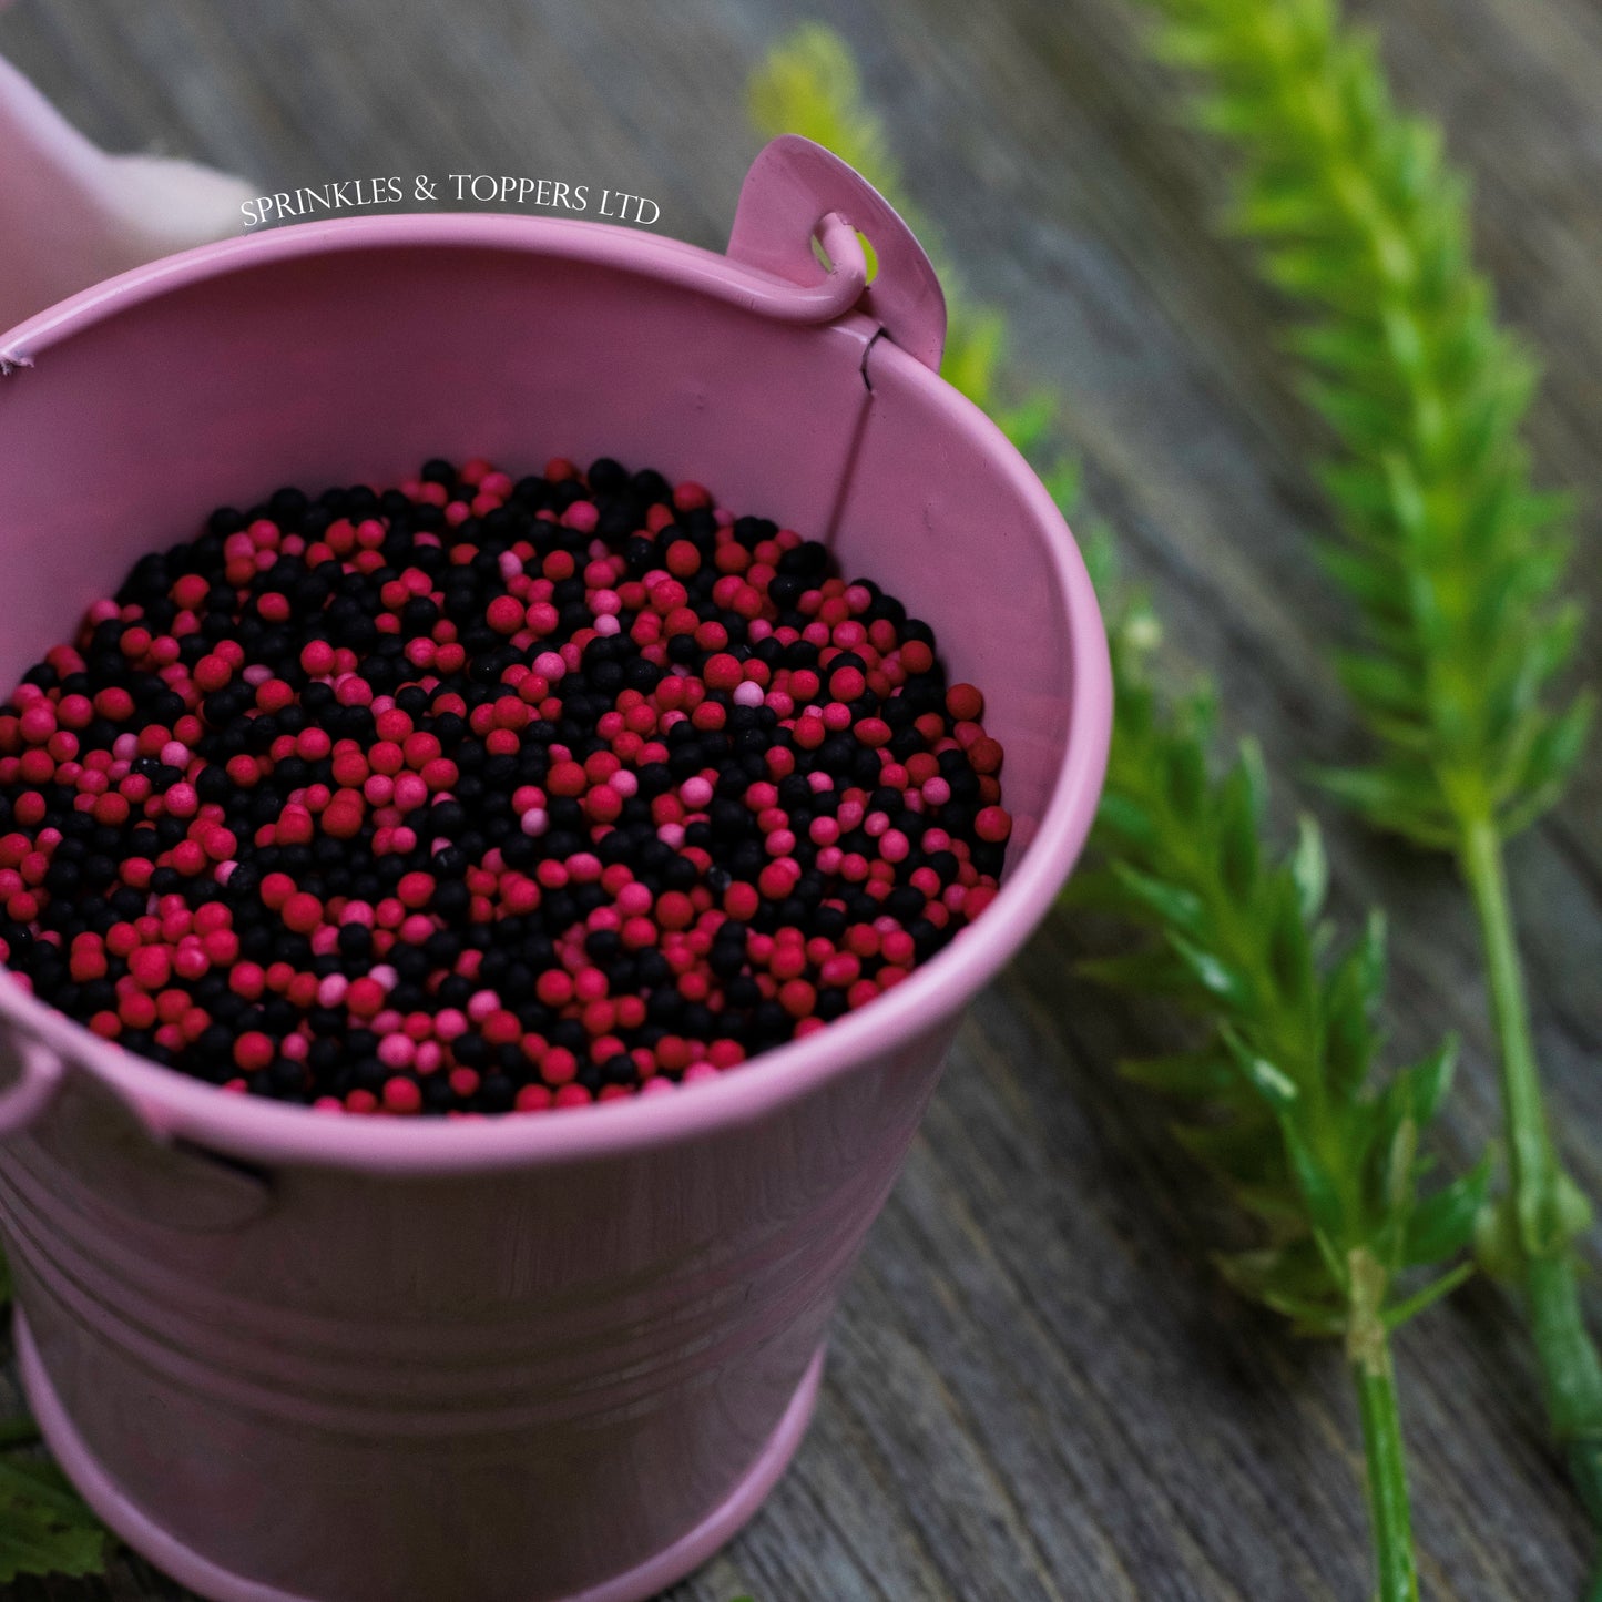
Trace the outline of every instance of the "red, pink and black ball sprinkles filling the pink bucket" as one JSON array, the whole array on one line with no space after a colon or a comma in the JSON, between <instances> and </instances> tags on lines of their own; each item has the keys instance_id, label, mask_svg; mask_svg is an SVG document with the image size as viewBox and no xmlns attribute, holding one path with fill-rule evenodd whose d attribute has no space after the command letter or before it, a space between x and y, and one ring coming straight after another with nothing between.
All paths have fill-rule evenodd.
<instances>
[{"instance_id":1,"label":"red, pink and black ball sprinkles filling the pink bucket","mask_svg":"<svg viewBox=\"0 0 1602 1602\"><path fill-rule=\"evenodd\" d=\"M996 892L1001 747L934 647L823 545L610 458L221 508L0 706L0 960L324 1112L724 1073Z\"/></svg>"}]
</instances>

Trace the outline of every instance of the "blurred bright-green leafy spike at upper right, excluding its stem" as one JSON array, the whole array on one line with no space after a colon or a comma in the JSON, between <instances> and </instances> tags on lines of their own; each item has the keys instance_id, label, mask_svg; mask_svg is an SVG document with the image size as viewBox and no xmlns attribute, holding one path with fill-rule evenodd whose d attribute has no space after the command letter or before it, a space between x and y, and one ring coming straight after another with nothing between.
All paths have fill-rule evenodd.
<instances>
[{"instance_id":1,"label":"blurred bright-green leafy spike at upper right, excluding its stem","mask_svg":"<svg viewBox=\"0 0 1602 1602\"><path fill-rule=\"evenodd\" d=\"M1339 668L1381 756L1331 783L1423 844L1506 838L1559 798L1591 700L1552 697L1580 628L1568 508L1532 485L1536 368L1472 266L1466 186L1333 0L1152 3L1161 54L1205 85L1197 120L1234 151L1229 223L1298 312L1301 388L1338 441L1322 476L1344 538L1322 556L1360 612Z\"/></svg>"}]
</instances>

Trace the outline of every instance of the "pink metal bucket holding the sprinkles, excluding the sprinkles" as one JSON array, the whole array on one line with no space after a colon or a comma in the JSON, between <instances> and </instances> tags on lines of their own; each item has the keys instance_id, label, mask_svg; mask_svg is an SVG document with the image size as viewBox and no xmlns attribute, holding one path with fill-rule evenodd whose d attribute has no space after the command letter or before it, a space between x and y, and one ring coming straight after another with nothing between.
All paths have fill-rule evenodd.
<instances>
[{"instance_id":1,"label":"pink metal bucket holding the sprinkles, excluding the sprinkles","mask_svg":"<svg viewBox=\"0 0 1602 1602\"><path fill-rule=\"evenodd\" d=\"M849 223L849 226L847 226ZM873 244L863 288L852 229ZM833 266L812 253L820 237ZM1003 889L896 990L673 1096L469 1123L227 1096L0 984L29 1399L106 1522L237 1602L628 1602L756 1509L963 1006L1089 827L1110 687L1073 541L936 376L923 252L787 138L726 256L583 221L301 224L0 340L0 682L144 549L431 455L615 455L827 538L988 690Z\"/></svg>"}]
</instances>

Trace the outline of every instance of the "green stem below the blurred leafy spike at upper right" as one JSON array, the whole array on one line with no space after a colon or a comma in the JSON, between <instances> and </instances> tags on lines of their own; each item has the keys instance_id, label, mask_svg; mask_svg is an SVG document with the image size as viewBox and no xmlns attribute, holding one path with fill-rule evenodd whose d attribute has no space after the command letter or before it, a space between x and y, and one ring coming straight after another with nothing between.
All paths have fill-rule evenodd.
<instances>
[{"instance_id":1,"label":"green stem below the blurred leafy spike at upper right","mask_svg":"<svg viewBox=\"0 0 1602 1602\"><path fill-rule=\"evenodd\" d=\"M1485 942L1491 1017L1501 1056L1514 1242L1541 1362L1546 1413L1552 1434L1568 1455L1586 1511L1602 1524L1602 1360L1580 1307L1575 1229L1564 1216L1568 1181L1541 1104L1524 971L1507 904L1503 843L1496 828L1490 822L1467 823L1459 859ZM1602 1589L1594 1594L1602 1596Z\"/></svg>"}]
</instances>

